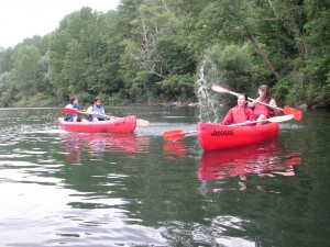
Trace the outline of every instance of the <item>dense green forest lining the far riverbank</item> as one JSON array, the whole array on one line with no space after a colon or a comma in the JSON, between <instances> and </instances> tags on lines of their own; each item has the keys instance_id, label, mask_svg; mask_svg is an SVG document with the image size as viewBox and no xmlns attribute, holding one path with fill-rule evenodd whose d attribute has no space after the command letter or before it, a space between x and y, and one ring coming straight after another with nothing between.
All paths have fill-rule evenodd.
<instances>
[{"instance_id":1,"label":"dense green forest lining the far riverbank","mask_svg":"<svg viewBox=\"0 0 330 247\"><path fill-rule=\"evenodd\" d=\"M109 0L110 1L110 0ZM84 7L55 31L0 52L0 106L196 102L211 78L279 105L330 106L330 11L323 0L121 0ZM42 20L41 20L42 21ZM1 44L0 44L1 45Z\"/></svg>"}]
</instances>

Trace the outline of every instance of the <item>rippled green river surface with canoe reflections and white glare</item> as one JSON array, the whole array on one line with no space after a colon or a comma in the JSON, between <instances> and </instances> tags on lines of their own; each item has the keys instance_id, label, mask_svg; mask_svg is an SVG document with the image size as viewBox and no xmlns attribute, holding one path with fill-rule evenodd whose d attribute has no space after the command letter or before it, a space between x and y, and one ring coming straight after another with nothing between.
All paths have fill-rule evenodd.
<instances>
[{"instance_id":1,"label":"rippled green river surface with canoe reflections and white glare","mask_svg":"<svg viewBox=\"0 0 330 247\"><path fill-rule=\"evenodd\" d=\"M197 109L111 114L151 125L67 133L59 109L0 110L1 246L329 246L329 112L212 153L162 136L196 130Z\"/></svg>"}]
</instances>

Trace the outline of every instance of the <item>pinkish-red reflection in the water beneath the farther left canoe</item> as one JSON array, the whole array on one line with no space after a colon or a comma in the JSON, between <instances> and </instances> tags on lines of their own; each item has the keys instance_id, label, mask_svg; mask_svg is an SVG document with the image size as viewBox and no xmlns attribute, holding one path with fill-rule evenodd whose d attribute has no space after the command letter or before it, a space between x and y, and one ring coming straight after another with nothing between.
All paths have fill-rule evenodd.
<instances>
[{"instance_id":1,"label":"pinkish-red reflection in the water beneath the farther left canoe","mask_svg":"<svg viewBox=\"0 0 330 247\"><path fill-rule=\"evenodd\" d=\"M81 153L86 151L94 159L102 160L105 153L146 153L148 136L134 133L61 133L64 141L63 154L66 162L80 162Z\"/></svg>"}]
</instances>

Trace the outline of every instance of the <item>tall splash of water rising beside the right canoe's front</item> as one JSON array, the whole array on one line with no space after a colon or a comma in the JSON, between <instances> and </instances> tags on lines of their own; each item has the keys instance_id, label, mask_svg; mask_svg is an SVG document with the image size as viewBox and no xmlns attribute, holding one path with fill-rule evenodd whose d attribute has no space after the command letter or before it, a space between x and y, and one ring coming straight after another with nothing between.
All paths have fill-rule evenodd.
<instances>
[{"instance_id":1,"label":"tall splash of water rising beside the right canoe's front","mask_svg":"<svg viewBox=\"0 0 330 247\"><path fill-rule=\"evenodd\" d=\"M205 56L199 70L199 79L197 80L197 97L199 101L199 120L200 122L219 122L219 100L211 91L211 86L217 83L220 72L208 56Z\"/></svg>"}]
</instances>

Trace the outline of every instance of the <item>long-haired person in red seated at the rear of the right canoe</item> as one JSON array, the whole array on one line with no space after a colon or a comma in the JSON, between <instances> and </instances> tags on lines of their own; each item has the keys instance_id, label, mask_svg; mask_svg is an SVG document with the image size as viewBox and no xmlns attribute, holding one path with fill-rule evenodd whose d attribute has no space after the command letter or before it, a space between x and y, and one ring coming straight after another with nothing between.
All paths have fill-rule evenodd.
<instances>
[{"instance_id":1,"label":"long-haired person in red seated at the rear of the right canoe","mask_svg":"<svg viewBox=\"0 0 330 247\"><path fill-rule=\"evenodd\" d=\"M267 106L255 101L249 102L248 106L253 109L254 115L257 119L258 124L266 123L266 119L278 115L279 112L276 109L277 103L274 98L271 97L271 90L267 85L262 85L258 87L258 98L256 101L270 104L272 106Z\"/></svg>"}]
</instances>

